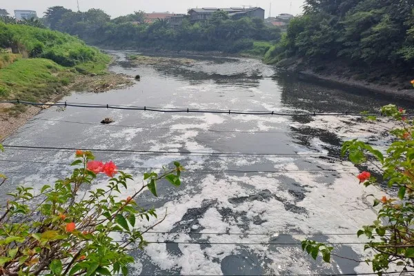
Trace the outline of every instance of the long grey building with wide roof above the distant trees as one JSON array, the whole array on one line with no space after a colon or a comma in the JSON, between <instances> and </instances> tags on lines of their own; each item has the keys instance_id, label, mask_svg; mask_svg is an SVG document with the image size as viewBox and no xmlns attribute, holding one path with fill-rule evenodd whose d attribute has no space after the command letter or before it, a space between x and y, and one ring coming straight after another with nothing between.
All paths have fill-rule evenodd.
<instances>
[{"instance_id":1,"label":"long grey building with wide roof above the distant trees","mask_svg":"<svg viewBox=\"0 0 414 276\"><path fill-rule=\"evenodd\" d=\"M242 17L258 17L264 19L264 9L254 8L192 8L188 10L190 14L191 22L206 21L214 12L223 10L228 12L228 15L234 19L240 19Z\"/></svg>"}]
</instances>

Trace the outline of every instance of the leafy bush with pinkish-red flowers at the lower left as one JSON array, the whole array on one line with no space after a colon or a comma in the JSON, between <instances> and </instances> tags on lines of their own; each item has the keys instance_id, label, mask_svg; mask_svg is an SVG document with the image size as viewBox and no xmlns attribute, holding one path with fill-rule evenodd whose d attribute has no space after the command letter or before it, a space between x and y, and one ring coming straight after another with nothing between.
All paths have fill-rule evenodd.
<instances>
[{"instance_id":1,"label":"leafy bush with pinkish-red flowers at the lower left","mask_svg":"<svg viewBox=\"0 0 414 276\"><path fill-rule=\"evenodd\" d=\"M143 248L144 233L164 220L140 229L138 220L157 215L135 199L145 188L157 196L160 179L179 186L183 168L175 162L161 175L146 173L146 184L125 197L120 189L132 176L112 161L94 159L92 152L77 150L70 177L43 186L36 195L25 187L9 194L0 209L0 275L128 274L134 262L128 252ZM87 190L99 173L110 177L108 186Z\"/></svg>"}]
</instances>

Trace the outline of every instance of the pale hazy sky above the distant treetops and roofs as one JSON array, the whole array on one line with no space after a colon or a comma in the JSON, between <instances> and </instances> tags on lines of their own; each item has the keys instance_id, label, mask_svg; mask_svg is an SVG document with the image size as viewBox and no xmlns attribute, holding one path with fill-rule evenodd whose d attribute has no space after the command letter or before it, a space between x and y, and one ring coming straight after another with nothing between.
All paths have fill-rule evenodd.
<instances>
[{"instance_id":1,"label":"pale hazy sky above the distant treetops and roofs","mask_svg":"<svg viewBox=\"0 0 414 276\"><path fill-rule=\"evenodd\" d=\"M77 10L77 0L4 0L0 8L5 8L14 15L13 10L36 10L39 17L50 6L64 6ZM81 11L90 8L100 8L113 17L129 14L135 10L146 12L175 12L186 13L188 8L228 8L259 6L264 8L265 17L269 14L269 4L272 2L272 16L279 13L299 14L302 12L304 0L79 0ZM290 8L290 3L292 3Z\"/></svg>"}]
</instances>

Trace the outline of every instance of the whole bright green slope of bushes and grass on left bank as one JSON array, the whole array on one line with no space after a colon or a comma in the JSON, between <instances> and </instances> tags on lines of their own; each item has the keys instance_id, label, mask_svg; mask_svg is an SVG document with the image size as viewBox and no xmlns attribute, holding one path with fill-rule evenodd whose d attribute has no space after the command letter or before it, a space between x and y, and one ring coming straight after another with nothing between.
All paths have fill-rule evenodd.
<instances>
[{"instance_id":1,"label":"whole bright green slope of bushes and grass on left bank","mask_svg":"<svg viewBox=\"0 0 414 276\"><path fill-rule=\"evenodd\" d=\"M0 97L46 100L61 95L77 72L103 74L110 57L76 37L0 21Z\"/></svg>"}]
</instances>

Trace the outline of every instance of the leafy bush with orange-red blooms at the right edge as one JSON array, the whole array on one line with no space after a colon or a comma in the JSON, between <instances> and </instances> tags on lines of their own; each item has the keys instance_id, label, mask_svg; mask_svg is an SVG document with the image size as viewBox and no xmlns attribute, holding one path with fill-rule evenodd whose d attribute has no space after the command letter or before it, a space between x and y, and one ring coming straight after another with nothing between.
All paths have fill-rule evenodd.
<instances>
[{"instance_id":1,"label":"leafy bush with orange-red blooms at the right edge","mask_svg":"<svg viewBox=\"0 0 414 276\"><path fill-rule=\"evenodd\" d=\"M358 237L365 235L368 238L364 249L371 249L373 257L365 262L371 263L378 275L386 273L390 264L400 266L402 271L414 268L414 122L407 119L406 110L394 105L384 106L382 114L400 124L400 127L390 130L395 141L388 147L386 157L356 139L346 141L342 147L342 154L348 155L354 164L366 161L373 164L373 159L380 164L374 164L382 170L380 181L370 172L362 172L357 176L359 183L364 186L386 184L391 193L393 190L396 193L395 197L384 195L381 199L374 199L373 206L380 208L377 220L357 232ZM322 255L325 262L331 261L333 247L305 240L302 249L314 259Z\"/></svg>"}]
</instances>

